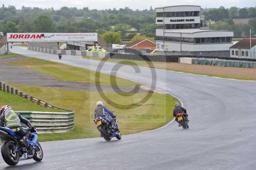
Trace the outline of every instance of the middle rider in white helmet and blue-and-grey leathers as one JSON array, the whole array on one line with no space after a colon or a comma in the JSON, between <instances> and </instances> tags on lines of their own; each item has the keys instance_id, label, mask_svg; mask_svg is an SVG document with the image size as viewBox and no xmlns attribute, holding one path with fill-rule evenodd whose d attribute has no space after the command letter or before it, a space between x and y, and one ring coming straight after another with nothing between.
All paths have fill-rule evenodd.
<instances>
[{"instance_id":1,"label":"middle rider in white helmet and blue-and-grey leathers","mask_svg":"<svg viewBox=\"0 0 256 170\"><path fill-rule=\"evenodd\" d=\"M114 118L116 118L116 115L114 115L113 112L111 112L107 107L103 106L102 101L97 101L96 109L94 111L94 118L99 116L110 122L112 125L112 129L116 128L116 121L114 120Z\"/></svg>"}]
</instances>

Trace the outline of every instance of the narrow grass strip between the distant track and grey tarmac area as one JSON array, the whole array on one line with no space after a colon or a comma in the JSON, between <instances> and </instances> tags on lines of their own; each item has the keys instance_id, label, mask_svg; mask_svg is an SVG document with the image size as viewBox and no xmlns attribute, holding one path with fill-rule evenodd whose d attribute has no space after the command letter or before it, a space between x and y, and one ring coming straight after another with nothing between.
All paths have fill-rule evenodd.
<instances>
[{"instance_id":1,"label":"narrow grass strip between the distant track and grey tarmac area","mask_svg":"<svg viewBox=\"0 0 256 170\"><path fill-rule=\"evenodd\" d=\"M38 58L25 58L20 59L18 61L9 63L12 66L23 66L28 69L33 69L38 72L42 72L48 75L52 75L60 80L64 81L78 81L85 83L93 83L93 84L102 84L102 85L110 85L111 75L100 74L100 82L96 82L95 74L96 72L82 69L79 67L68 66L65 64L46 61ZM135 86L140 85L138 83L128 81L122 78L116 78L116 84L118 86Z\"/></svg>"}]
</instances>

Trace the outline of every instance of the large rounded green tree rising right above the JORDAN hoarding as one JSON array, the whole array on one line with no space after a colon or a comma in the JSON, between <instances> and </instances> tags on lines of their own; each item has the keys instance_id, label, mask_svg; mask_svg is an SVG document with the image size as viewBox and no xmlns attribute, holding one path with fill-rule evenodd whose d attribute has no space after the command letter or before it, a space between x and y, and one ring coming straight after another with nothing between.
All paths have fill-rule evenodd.
<instances>
[{"instance_id":1,"label":"large rounded green tree rising right above the JORDAN hoarding","mask_svg":"<svg viewBox=\"0 0 256 170\"><path fill-rule=\"evenodd\" d=\"M34 21L34 32L53 32L53 30L52 18L47 15L39 15Z\"/></svg>"}]
</instances>

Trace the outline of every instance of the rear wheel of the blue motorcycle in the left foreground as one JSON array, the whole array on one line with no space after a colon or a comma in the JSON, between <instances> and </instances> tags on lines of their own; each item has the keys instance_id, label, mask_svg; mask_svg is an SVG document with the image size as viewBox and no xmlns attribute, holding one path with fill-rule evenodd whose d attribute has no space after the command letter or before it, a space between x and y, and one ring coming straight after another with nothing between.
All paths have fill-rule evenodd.
<instances>
[{"instance_id":1,"label":"rear wheel of the blue motorcycle in the left foreground","mask_svg":"<svg viewBox=\"0 0 256 170\"><path fill-rule=\"evenodd\" d=\"M3 160L6 162L6 164L11 166L16 165L20 160L20 154L18 152L14 152L14 150L15 144L10 141L4 142L1 147Z\"/></svg>"}]
</instances>

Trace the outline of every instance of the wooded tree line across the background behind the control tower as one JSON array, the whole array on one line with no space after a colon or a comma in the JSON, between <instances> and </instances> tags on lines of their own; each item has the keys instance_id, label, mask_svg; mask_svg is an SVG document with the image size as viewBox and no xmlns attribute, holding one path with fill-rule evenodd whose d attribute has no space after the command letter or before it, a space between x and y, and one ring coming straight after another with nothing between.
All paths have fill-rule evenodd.
<instances>
[{"instance_id":1,"label":"wooded tree line across the background behind the control tower","mask_svg":"<svg viewBox=\"0 0 256 170\"><path fill-rule=\"evenodd\" d=\"M236 36L248 35L253 29L256 34L256 8L229 9L223 6L216 9L201 9L206 20L213 20L212 29L235 31ZM0 32L98 32L108 37L116 34L122 39L134 36L154 39L156 12L148 10L124 9L83 9L61 7L60 9L42 9L23 6L2 6L0 8ZM236 25L232 19L250 17L247 24ZM104 37L104 36L103 36ZM119 40L117 40L118 42Z\"/></svg>"}]
</instances>

